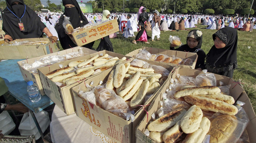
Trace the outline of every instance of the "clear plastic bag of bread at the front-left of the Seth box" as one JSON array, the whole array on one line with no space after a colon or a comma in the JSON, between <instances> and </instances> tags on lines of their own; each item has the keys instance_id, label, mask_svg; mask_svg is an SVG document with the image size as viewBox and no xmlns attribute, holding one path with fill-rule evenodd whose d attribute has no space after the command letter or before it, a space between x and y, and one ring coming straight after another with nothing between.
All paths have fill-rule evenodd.
<instances>
[{"instance_id":1,"label":"clear plastic bag of bread at the front-left of the Seth box","mask_svg":"<svg viewBox=\"0 0 256 143\"><path fill-rule=\"evenodd\" d=\"M98 86L94 89L94 94L104 110L123 119L128 118L130 120L129 106L113 90L106 89L104 86Z\"/></svg>"}]
</instances>

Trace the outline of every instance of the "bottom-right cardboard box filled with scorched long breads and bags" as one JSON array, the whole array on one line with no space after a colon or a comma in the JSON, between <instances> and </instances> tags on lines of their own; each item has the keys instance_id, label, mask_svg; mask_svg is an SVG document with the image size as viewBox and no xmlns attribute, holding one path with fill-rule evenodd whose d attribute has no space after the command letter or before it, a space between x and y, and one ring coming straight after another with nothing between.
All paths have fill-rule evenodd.
<instances>
[{"instance_id":1,"label":"bottom-right cardboard box filled with scorched long breads and bags","mask_svg":"<svg viewBox=\"0 0 256 143\"><path fill-rule=\"evenodd\" d=\"M249 98L225 76L178 68L148 113L137 126L136 142L255 142Z\"/></svg>"}]
</instances>

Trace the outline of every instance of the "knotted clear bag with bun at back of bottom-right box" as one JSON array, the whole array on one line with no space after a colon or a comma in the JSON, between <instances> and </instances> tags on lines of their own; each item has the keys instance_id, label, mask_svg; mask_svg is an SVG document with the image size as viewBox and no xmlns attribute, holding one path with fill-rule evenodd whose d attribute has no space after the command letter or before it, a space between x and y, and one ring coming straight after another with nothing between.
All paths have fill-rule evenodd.
<instances>
[{"instance_id":1,"label":"knotted clear bag with bun at back of bottom-right box","mask_svg":"<svg viewBox=\"0 0 256 143\"><path fill-rule=\"evenodd\" d=\"M203 70L203 74L199 74L196 76L195 85L196 86L216 86L216 77L213 73L207 72L207 70Z\"/></svg>"}]
</instances>

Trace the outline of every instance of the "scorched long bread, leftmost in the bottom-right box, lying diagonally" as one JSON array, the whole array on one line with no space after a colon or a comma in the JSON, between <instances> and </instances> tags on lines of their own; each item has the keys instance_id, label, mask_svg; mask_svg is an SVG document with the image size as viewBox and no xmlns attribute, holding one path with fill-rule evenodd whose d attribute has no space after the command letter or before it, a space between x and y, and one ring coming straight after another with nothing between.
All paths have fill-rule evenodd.
<instances>
[{"instance_id":1,"label":"scorched long bread, leftmost in the bottom-right box, lying diagonally","mask_svg":"<svg viewBox=\"0 0 256 143\"><path fill-rule=\"evenodd\" d=\"M156 119L155 121L149 123L148 130L154 132L167 131L170 127L174 126L177 121L179 121L187 111L184 108L179 108L173 110L164 116Z\"/></svg>"}]
</instances>

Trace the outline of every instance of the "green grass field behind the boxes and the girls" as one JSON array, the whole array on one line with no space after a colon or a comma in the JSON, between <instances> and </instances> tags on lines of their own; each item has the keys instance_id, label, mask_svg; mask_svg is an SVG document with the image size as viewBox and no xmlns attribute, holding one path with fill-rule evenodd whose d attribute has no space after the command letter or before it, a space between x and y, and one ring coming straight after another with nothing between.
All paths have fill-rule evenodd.
<instances>
[{"instance_id":1,"label":"green grass field behind the boxes and the girls","mask_svg":"<svg viewBox=\"0 0 256 143\"><path fill-rule=\"evenodd\" d=\"M205 29L206 26L196 25L196 28L188 28L184 31L161 31L160 40L152 42L150 44L145 44L144 42L137 42L137 45L131 43L135 38L125 39L121 34L117 34L116 38L110 39L114 52L120 54L127 54L135 49L139 49L142 46L154 47L161 49L169 49L170 42L168 40L169 36L178 36L181 38L181 42L186 44L186 37L188 32L192 29L199 29L203 32L203 42L202 49L207 54L210 48L213 46L212 34L217 30ZM238 32L238 47L237 47L237 61L238 68L234 72L234 80L241 79L244 84L244 89L248 94L251 104L256 111L256 30L253 29L252 32L237 31ZM135 35L137 32L134 33ZM151 36L151 31L148 32ZM155 37L156 39L156 37ZM99 40L96 40L93 48L96 49L99 45ZM248 49L248 46L251 48Z\"/></svg>"}]
</instances>

